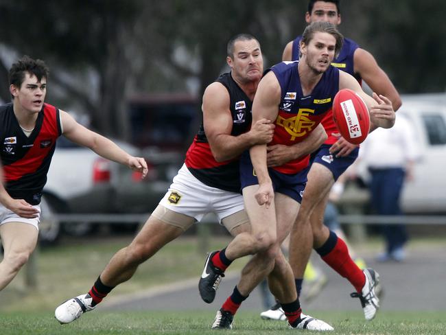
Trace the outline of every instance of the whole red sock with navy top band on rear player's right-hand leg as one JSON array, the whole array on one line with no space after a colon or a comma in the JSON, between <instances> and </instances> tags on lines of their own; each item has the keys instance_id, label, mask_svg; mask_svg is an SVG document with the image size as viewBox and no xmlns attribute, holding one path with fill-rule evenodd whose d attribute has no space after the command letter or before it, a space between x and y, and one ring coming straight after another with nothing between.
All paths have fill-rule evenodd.
<instances>
[{"instance_id":1,"label":"whole red sock with navy top band on rear player's right-hand leg","mask_svg":"<svg viewBox=\"0 0 446 335\"><path fill-rule=\"evenodd\" d=\"M349 249L345 242L338 238L336 233L330 231L328 240L316 252L322 257L333 270L342 277L347 278L355 287L357 292L361 292L366 283L366 277L362 270L353 262L349 255Z\"/></svg>"}]
</instances>

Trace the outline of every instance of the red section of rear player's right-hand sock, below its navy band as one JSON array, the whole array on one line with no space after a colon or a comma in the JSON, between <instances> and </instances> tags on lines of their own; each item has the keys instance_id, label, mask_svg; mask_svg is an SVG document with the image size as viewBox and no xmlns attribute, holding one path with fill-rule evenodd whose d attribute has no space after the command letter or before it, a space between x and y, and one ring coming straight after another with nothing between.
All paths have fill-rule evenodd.
<instances>
[{"instance_id":1,"label":"red section of rear player's right-hand sock, below its navy band","mask_svg":"<svg viewBox=\"0 0 446 335\"><path fill-rule=\"evenodd\" d=\"M362 287L366 284L366 277L351 259L349 249L344 241L338 238L334 248L322 256L322 259L342 277L347 278L357 292L361 292Z\"/></svg>"}]
</instances>

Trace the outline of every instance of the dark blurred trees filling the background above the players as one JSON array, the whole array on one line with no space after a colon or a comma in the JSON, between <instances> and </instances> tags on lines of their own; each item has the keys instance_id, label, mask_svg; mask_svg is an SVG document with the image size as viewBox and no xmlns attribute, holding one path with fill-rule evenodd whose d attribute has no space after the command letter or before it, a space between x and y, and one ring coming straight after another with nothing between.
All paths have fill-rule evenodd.
<instances>
[{"instance_id":1,"label":"dark blurred trees filling the background above the players","mask_svg":"<svg viewBox=\"0 0 446 335\"><path fill-rule=\"evenodd\" d=\"M51 69L47 101L88 113L106 135L128 138L128 97L200 95L225 69L226 42L248 32L266 66L305 27L307 1L0 0L0 98L8 69L28 54ZM446 2L341 3L340 31L373 53L400 93L445 91Z\"/></svg>"}]
</instances>

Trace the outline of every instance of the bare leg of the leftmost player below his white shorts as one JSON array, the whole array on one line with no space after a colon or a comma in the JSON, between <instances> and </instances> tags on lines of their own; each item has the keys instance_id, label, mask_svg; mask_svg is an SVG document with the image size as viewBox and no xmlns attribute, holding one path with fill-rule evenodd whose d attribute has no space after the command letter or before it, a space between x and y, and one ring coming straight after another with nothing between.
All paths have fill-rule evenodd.
<instances>
[{"instance_id":1,"label":"bare leg of the leftmost player below his white shorts","mask_svg":"<svg viewBox=\"0 0 446 335\"><path fill-rule=\"evenodd\" d=\"M3 290L36 249L38 231L32 224L7 222L0 226L3 260L0 263L0 291Z\"/></svg>"}]
</instances>

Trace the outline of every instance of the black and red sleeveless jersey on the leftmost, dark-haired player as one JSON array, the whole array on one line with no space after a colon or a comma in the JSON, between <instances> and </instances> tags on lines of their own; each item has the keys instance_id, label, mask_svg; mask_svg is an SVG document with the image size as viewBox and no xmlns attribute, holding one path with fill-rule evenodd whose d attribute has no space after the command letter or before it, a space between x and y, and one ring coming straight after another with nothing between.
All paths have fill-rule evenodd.
<instances>
[{"instance_id":1,"label":"black and red sleeveless jersey on the leftmost, dark-haired player","mask_svg":"<svg viewBox=\"0 0 446 335\"><path fill-rule=\"evenodd\" d=\"M44 104L30 137L20 128L12 104L0 106L1 163L5 189L12 198L40 203L49 164L62 135L58 108Z\"/></svg>"}]
</instances>

